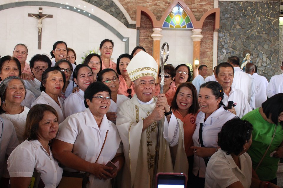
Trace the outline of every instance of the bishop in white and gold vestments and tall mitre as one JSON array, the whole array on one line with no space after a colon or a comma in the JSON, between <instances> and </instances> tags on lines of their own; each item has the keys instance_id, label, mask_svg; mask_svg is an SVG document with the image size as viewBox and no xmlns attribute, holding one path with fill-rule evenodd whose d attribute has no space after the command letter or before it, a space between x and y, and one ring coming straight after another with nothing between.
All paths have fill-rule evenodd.
<instances>
[{"instance_id":1,"label":"bishop in white and gold vestments and tall mitre","mask_svg":"<svg viewBox=\"0 0 283 188\"><path fill-rule=\"evenodd\" d=\"M151 187L158 120L164 121L158 172L188 172L183 124L172 114L165 94L153 97L157 68L154 58L144 51L127 67L136 94L120 105L116 118L125 156L123 188Z\"/></svg>"}]
</instances>

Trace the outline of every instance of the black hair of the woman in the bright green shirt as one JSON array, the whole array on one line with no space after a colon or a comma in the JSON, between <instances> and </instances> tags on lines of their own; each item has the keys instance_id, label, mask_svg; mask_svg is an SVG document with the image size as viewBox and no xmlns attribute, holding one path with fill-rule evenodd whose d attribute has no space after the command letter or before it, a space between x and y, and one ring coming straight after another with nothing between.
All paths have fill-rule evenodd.
<instances>
[{"instance_id":1,"label":"black hair of the woman in the bright green shirt","mask_svg":"<svg viewBox=\"0 0 283 188\"><path fill-rule=\"evenodd\" d=\"M267 118L278 125L278 116L283 112L283 93L278 93L261 104L262 110ZM283 126L283 121L279 122Z\"/></svg>"}]
</instances>

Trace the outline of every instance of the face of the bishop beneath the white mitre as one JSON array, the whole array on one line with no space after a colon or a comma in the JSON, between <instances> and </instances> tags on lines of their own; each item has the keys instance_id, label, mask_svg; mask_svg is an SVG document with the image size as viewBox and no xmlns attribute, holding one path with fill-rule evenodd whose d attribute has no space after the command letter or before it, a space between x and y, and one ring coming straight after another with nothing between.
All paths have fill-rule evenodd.
<instances>
[{"instance_id":1,"label":"face of the bishop beneath the white mitre","mask_svg":"<svg viewBox=\"0 0 283 188\"><path fill-rule=\"evenodd\" d=\"M134 81L133 88L137 98L140 101L147 103L153 98L155 80L153 76L143 76Z\"/></svg>"}]
</instances>

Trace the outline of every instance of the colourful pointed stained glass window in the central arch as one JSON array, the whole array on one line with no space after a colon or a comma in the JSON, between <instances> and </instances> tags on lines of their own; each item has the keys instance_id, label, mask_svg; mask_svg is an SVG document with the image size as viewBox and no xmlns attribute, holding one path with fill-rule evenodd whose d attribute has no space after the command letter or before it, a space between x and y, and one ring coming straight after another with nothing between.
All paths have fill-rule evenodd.
<instances>
[{"instance_id":1,"label":"colourful pointed stained glass window in the central arch","mask_svg":"<svg viewBox=\"0 0 283 188\"><path fill-rule=\"evenodd\" d=\"M163 23L163 28L191 28L192 22L186 11L178 3L169 13Z\"/></svg>"}]
</instances>

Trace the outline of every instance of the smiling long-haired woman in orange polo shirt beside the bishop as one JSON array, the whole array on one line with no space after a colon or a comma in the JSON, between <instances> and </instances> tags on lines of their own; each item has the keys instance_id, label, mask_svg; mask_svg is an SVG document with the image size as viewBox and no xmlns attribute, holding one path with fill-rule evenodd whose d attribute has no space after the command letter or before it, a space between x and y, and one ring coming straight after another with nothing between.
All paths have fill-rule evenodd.
<instances>
[{"instance_id":1,"label":"smiling long-haired woman in orange polo shirt beside the bishop","mask_svg":"<svg viewBox=\"0 0 283 188\"><path fill-rule=\"evenodd\" d=\"M184 144L185 152L189 161L188 185L192 181L192 166L194 163L192 135L195 132L195 119L200 111L198 104L197 90L192 83L181 83L176 90L172 100L172 113L179 118L184 124Z\"/></svg>"}]
</instances>

